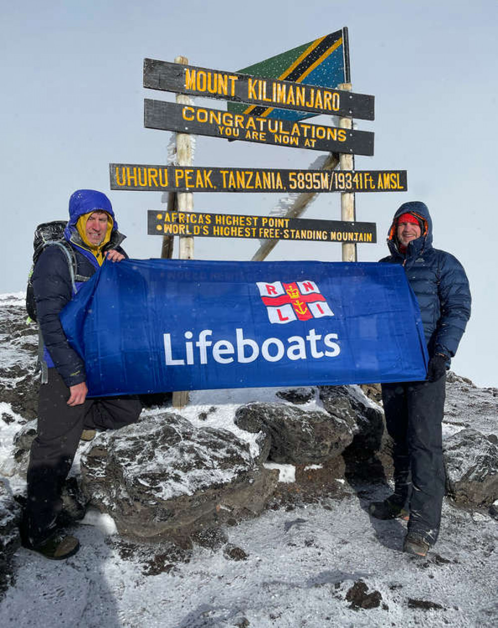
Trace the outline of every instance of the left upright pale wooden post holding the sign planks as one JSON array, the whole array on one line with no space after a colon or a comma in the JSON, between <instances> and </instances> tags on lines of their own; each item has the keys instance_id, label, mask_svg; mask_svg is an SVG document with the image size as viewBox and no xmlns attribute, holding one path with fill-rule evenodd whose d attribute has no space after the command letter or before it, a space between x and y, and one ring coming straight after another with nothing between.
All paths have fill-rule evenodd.
<instances>
[{"instance_id":1,"label":"left upright pale wooden post holding the sign planks","mask_svg":"<svg viewBox=\"0 0 498 628\"><path fill-rule=\"evenodd\" d=\"M187 57L176 57L175 63L183 63L187 65ZM183 94L176 94L176 102L181 105L190 105L192 101ZM178 166L192 166L192 141L188 133L176 133L176 156ZM193 210L193 194L192 192L178 192L178 211L192 212ZM168 203L169 205L169 203ZM180 251L178 253L180 259L193 259L193 237L180 236ZM175 391L173 393L173 407L183 408L188 404L188 391Z\"/></svg>"}]
</instances>

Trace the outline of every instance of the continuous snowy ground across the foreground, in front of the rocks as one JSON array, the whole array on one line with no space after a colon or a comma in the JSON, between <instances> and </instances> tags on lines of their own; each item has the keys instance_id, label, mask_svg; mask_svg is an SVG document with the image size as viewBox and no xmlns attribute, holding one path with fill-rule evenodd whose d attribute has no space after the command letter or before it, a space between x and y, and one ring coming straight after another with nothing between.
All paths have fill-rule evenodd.
<instances>
[{"instance_id":1,"label":"continuous snowy ground across the foreground, in front of the rocks","mask_svg":"<svg viewBox=\"0 0 498 628\"><path fill-rule=\"evenodd\" d=\"M158 575L146 575L147 556L161 546L127 560L117 537L108 534L80 526L80 552L61 563L19 549L17 582L0 608L1 625L36 626L43 617L46 625L82 628L221 628L245 617L258 628L467 628L498 619L496 523L448 506L443 538L426 560L399 551L401 523L376 522L372 528L355 495L331 510L313 505L269 511L229 528L230 543L244 549L247 560L195 547L188 563ZM360 579L381 593L388 609L349 608L345 593ZM410 599L443 608L411 609Z\"/></svg>"}]
</instances>

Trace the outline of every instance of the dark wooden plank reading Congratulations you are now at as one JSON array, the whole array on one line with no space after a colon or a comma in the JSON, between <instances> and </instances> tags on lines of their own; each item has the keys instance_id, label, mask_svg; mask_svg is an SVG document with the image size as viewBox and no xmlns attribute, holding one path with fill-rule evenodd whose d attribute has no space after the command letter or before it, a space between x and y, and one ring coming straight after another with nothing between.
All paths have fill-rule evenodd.
<instances>
[{"instance_id":1,"label":"dark wooden plank reading Congratulations you are now at","mask_svg":"<svg viewBox=\"0 0 498 628\"><path fill-rule=\"evenodd\" d=\"M162 100L144 100L144 126L329 153L374 154L374 134L368 131L233 114Z\"/></svg>"}]
</instances>

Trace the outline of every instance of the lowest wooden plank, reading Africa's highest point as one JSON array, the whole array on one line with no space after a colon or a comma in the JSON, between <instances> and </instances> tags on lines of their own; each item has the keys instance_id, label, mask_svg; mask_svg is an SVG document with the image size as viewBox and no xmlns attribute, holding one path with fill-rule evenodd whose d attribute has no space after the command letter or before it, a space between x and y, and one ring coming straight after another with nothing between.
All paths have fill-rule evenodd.
<instances>
[{"instance_id":1,"label":"lowest wooden plank, reading Africa's highest point","mask_svg":"<svg viewBox=\"0 0 498 628\"><path fill-rule=\"evenodd\" d=\"M278 239L307 242L377 242L374 222L241 216L205 212L147 212L149 236Z\"/></svg>"}]
</instances>

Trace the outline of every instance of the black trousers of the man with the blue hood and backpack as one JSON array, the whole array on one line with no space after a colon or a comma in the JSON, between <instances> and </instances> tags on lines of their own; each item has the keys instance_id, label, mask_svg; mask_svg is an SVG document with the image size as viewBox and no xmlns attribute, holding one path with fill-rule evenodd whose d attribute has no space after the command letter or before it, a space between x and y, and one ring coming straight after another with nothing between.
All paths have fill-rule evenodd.
<instances>
[{"instance_id":1,"label":"black trousers of the man with the blue hood and backpack","mask_svg":"<svg viewBox=\"0 0 498 628\"><path fill-rule=\"evenodd\" d=\"M48 369L48 383L40 386L38 430L28 466L28 502L21 533L23 541L37 545L53 532L62 509L60 498L83 430L115 430L138 419L138 399L108 397L86 399L68 406L69 389L56 369Z\"/></svg>"}]
</instances>

